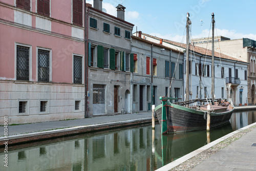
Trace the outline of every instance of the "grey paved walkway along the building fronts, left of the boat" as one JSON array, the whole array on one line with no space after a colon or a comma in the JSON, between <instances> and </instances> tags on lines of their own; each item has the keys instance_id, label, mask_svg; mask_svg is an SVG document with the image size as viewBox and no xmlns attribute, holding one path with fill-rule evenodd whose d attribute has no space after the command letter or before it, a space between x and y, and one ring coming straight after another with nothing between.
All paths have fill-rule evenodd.
<instances>
[{"instance_id":1,"label":"grey paved walkway along the building fronts, left of the boat","mask_svg":"<svg viewBox=\"0 0 256 171\"><path fill-rule=\"evenodd\" d=\"M37 122L30 124L19 124L8 126L8 136L35 133L40 131L63 129L68 127L96 125L103 123L112 123L136 119L150 119L152 118L151 112L138 113L138 114L125 114L115 116L97 116L93 118L74 119L74 120L62 120L52 122ZM4 136L4 126L0 126L0 138Z\"/></svg>"}]
</instances>

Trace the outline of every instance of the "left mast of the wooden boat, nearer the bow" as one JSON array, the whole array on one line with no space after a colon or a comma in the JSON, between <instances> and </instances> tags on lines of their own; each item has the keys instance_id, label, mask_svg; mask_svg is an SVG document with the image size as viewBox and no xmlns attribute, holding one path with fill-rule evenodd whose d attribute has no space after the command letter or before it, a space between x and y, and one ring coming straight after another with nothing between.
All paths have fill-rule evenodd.
<instances>
[{"instance_id":1,"label":"left mast of the wooden boat, nearer the bow","mask_svg":"<svg viewBox=\"0 0 256 171\"><path fill-rule=\"evenodd\" d=\"M187 34L186 34L186 101L189 100L189 25L191 25L191 21L189 19L189 13L187 13L187 24L186 24L186 29L187 29Z\"/></svg>"}]
</instances>

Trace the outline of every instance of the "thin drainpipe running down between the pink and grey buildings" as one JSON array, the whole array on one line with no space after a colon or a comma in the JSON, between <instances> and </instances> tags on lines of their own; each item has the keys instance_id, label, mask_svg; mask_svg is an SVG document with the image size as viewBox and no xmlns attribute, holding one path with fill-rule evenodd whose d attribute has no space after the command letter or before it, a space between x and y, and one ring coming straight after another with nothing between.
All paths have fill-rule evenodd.
<instances>
[{"instance_id":1,"label":"thin drainpipe running down between the pink and grey buildings","mask_svg":"<svg viewBox=\"0 0 256 171\"><path fill-rule=\"evenodd\" d=\"M87 11L86 11L86 0L84 0L84 51L85 51L85 55L86 56L86 61L84 62L84 67L86 68L86 72L85 72L85 78L86 78L86 87L85 87L85 99L84 99L84 118L88 118L88 96L87 96L87 92L88 92L88 16L89 16L89 8L88 8L88 15L87 15Z\"/></svg>"}]
</instances>

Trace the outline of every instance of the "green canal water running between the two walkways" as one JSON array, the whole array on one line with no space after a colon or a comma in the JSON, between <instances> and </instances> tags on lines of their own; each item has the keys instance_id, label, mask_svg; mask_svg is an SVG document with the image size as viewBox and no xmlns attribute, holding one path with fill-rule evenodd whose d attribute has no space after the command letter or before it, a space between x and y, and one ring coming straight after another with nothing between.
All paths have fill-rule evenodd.
<instances>
[{"instance_id":1,"label":"green canal water running between the two walkways","mask_svg":"<svg viewBox=\"0 0 256 171\"><path fill-rule=\"evenodd\" d=\"M256 111L234 112L230 123L211 129L210 141L256 121ZM206 131L162 136L151 125L83 134L10 147L1 170L155 170L207 144ZM153 138L152 138L153 137ZM209 139L208 139L209 141ZM1 149L1 152L4 152ZM4 153L0 153L3 161Z\"/></svg>"}]
</instances>

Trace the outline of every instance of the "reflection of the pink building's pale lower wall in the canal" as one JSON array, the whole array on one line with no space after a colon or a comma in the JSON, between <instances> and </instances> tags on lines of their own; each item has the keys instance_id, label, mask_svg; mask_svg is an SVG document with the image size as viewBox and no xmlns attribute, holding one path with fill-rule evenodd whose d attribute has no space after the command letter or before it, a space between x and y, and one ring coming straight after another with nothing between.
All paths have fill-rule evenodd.
<instances>
[{"instance_id":1,"label":"reflection of the pink building's pale lower wall in the canal","mask_svg":"<svg viewBox=\"0 0 256 171\"><path fill-rule=\"evenodd\" d=\"M84 140L69 140L9 151L4 170L81 170L83 161Z\"/></svg>"}]
</instances>

